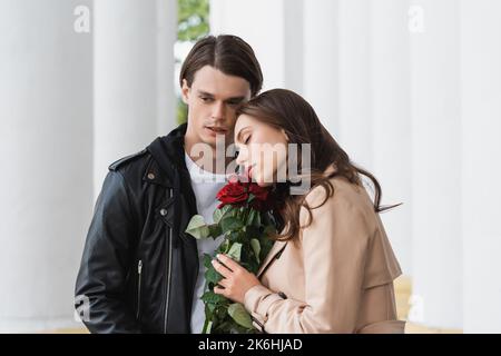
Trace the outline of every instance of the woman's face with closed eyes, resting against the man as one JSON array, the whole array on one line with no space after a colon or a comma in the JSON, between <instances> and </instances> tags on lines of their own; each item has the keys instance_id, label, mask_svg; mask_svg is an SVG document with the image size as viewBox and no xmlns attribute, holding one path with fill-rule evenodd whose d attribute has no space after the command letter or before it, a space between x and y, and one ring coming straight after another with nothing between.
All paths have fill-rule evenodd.
<instances>
[{"instance_id":1,"label":"woman's face with closed eyes, resting against the man","mask_svg":"<svg viewBox=\"0 0 501 356\"><path fill-rule=\"evenodd\" d=\"M248 115L240 115L235 125L237 165L249 169L257 185L265 187L285 181L287 162L287 135Z\"/></svg>"}]
</instances>

